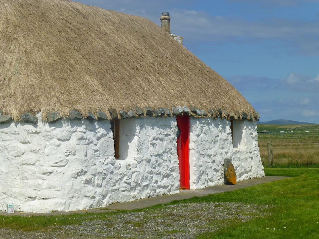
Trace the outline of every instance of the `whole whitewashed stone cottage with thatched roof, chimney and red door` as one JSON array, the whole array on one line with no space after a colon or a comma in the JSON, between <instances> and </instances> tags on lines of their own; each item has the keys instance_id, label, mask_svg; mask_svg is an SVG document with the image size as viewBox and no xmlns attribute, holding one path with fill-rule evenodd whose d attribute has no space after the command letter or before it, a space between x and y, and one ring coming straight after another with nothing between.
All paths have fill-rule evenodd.
<instances>
[{"instance_id":1,"label":"whole whitewashed stone cottage with thatched roof, chimney and red door","mask_svg":"<svg viewBox=\"0 0 319 239\"><path fill-rule=\"evenodd\" d=\"M259 114L148 19L0 0L0 210L105 206L263 177ZM176 40L179 40L176 41Z\"/></svg>"}]
</instances>

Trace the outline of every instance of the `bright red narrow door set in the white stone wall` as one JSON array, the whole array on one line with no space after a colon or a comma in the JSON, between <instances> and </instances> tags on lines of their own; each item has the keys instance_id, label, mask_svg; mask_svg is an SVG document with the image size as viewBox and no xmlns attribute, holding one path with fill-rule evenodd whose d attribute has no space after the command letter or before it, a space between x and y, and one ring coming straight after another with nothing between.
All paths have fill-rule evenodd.
<instances>
[{"instance_id":1,"label":"bright red narrow door set in the white stone wall","mask_svg":"<svg viewBox=\"0 0 319 239\"><path fill-rule=\"evenodd\" d=\"M189 189L189 116L176 116L177 155L180 168L180 189Z\"/></svg>"}]
</instances>

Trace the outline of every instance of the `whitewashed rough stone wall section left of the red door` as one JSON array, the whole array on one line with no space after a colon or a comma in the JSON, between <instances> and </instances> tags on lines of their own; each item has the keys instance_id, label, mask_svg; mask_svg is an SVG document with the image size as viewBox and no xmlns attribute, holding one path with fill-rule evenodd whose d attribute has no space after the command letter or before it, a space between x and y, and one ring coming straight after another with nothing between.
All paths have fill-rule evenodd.
<instances>
[{"instance_id":1,"label":"whitewashed rough stone wall section left of the red door","mask_svg":"<svg viewBox=\"0 0 319 239\"><path fill-rule=\"evenodd\" d=\"M129 119L136 150L123 160L109 121L38 118L0 125L0 210L13 202L18 211L70 211L178 192L174 118Z\"/></svg>"}]
</instances>

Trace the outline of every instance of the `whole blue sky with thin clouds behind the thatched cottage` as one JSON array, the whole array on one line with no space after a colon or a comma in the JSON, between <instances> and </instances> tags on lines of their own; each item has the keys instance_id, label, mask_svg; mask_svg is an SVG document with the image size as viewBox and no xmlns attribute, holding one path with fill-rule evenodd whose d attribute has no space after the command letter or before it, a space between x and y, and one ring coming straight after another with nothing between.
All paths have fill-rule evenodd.
<instances>
[{"instance_id":1,"label":"whole blue sky with thin clouds behind the thatched cottage","mask_svg":"<svg viewBox=\"0 0 319 239\"><path fill-rule=\"evenodd\" d=\"M319 0L78 0L160 24L226 78L261 121L319 123Z\"/></svg>"}]
</instances>

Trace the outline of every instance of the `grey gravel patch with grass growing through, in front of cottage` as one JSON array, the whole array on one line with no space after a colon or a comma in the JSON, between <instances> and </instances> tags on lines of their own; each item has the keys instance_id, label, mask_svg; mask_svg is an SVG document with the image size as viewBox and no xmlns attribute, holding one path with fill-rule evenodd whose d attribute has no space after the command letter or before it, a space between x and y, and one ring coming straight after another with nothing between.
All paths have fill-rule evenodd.
<instances>
[{"instance_id":1,"label":"grey gravel patch with grass growing through, in front of cottage","mask_svg":"<svg viewBox=\"0 0 319 239\"><path fill-rule=\"evenodd\" d=\"M138 213L90 218L80 225L55 226L47 231L21 232L0 229L1 238L195 238L227 225L233 218L241 221L263 216L269 206L241 203L188 203L149 209Z\"/></svg>"}]
</instances>

